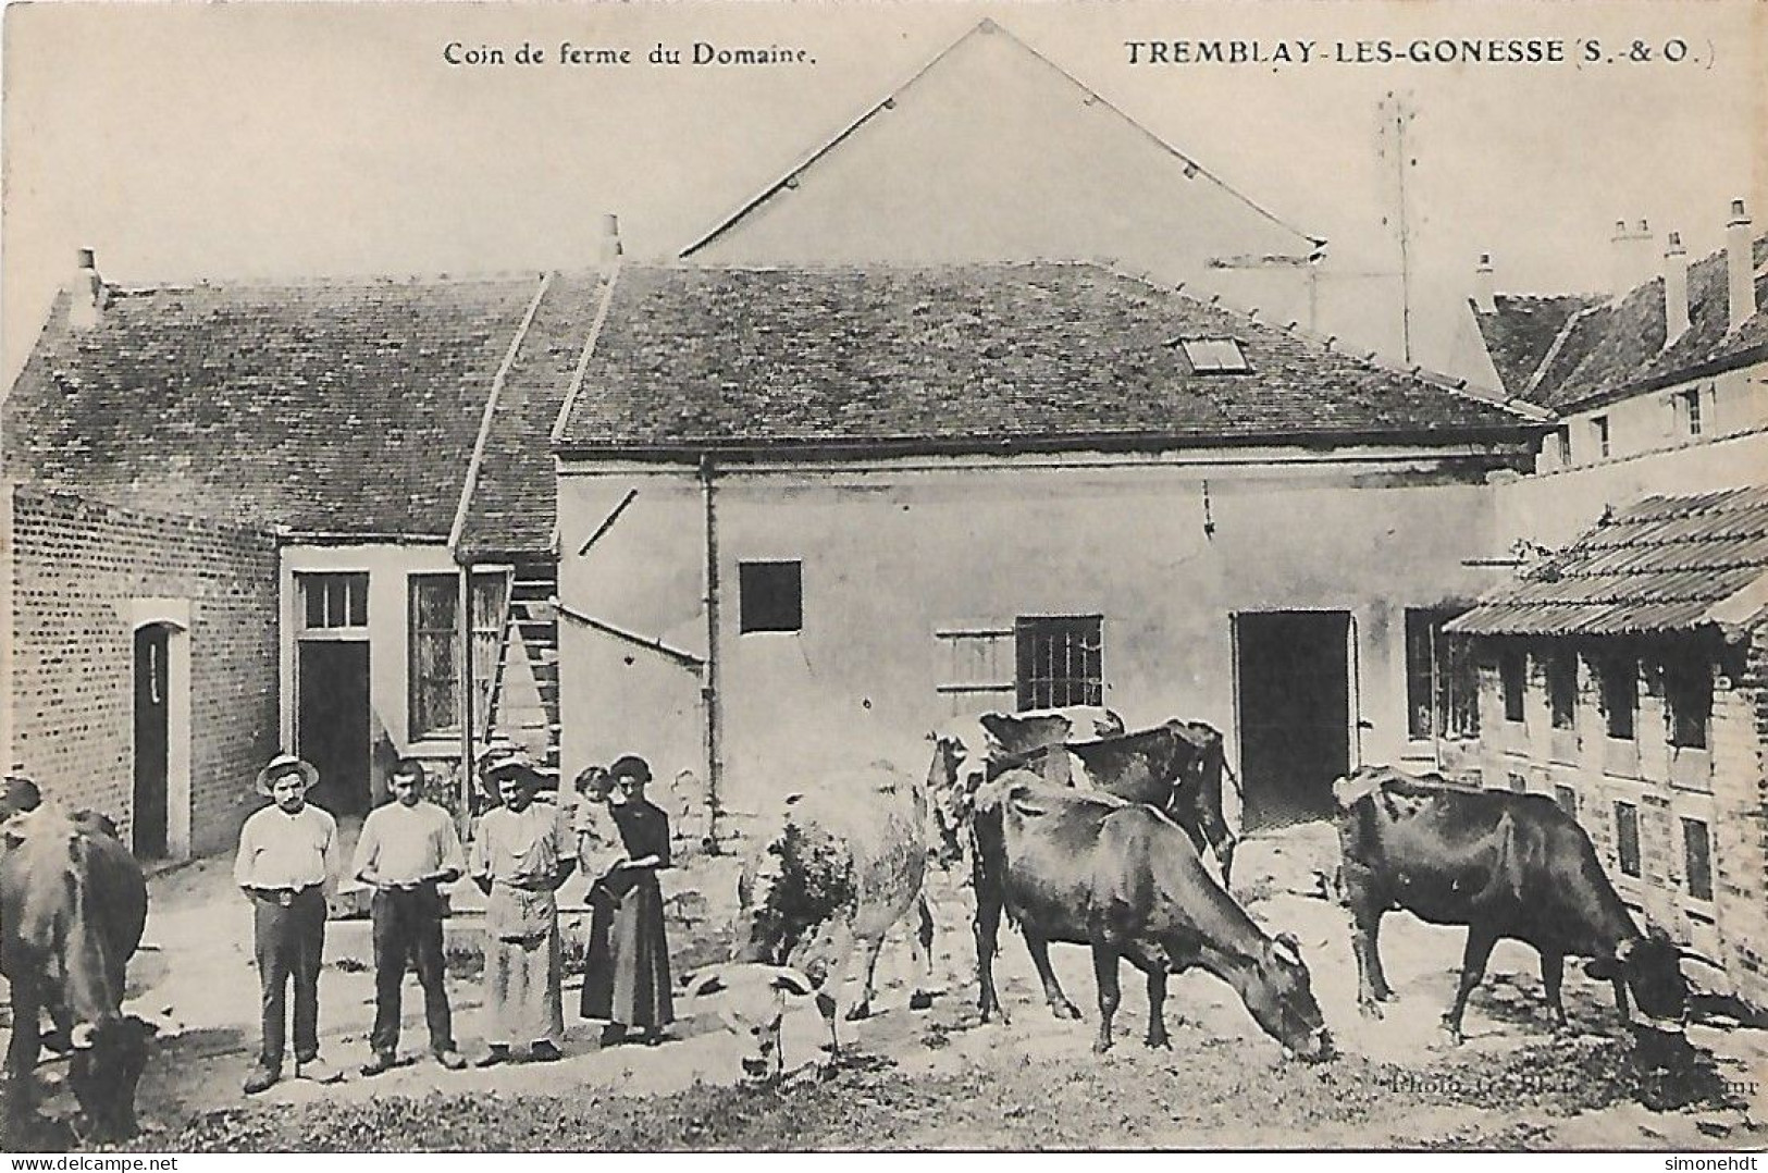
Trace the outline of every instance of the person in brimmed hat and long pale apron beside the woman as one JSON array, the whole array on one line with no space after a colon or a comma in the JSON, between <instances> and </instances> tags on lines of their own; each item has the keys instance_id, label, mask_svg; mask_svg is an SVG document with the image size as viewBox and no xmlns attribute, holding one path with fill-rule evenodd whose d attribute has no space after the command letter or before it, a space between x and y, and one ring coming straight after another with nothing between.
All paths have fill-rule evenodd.
<instances>
[{"instance_id":1,"label":"person in brimmed hat and long pale apron beside the woman","mask_svg":"<svg viewBox=\"0 0 1768 1173\"><path fill-rule=\"evenodd\" d=\"M504 803L479 819L472 840L472 879L484 904L484 1031L488 1053L477 1067L511 1058L564 1058L564 1005L559 993L559 902L553 897L576 867L571 830L555 803L536 803L539 771L514 748L492 750L481 773Z\"/></svg>"}]
</instances>

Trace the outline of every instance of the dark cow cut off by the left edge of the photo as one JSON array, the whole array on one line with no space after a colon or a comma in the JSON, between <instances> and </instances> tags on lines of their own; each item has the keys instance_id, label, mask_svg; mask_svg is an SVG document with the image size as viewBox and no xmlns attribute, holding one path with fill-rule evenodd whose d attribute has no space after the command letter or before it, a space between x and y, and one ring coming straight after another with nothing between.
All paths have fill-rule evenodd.
<instances>
[{"instance_id":1,"label":"dark cow cut off by the left edge of the photo","mask_svg":"<svg viewBox=\"0 0 1768 1173\"><path fill-rule=\"evenodd\" d=\"M141 867L104 816L41 809L0 844L0 973L12 985L5 1123L27 1136L42 1012L72 1047L67 1083L88 1139L134 1132L152 1028L122 1012L124 971L147 922Z\"/></svg>"}]
</instances>

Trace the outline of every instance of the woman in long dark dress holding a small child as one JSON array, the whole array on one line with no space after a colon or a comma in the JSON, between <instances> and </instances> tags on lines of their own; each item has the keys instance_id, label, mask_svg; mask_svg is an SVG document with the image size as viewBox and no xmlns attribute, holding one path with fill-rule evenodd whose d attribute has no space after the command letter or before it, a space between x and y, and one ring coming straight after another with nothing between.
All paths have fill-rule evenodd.
<instances>
[{"instance_id":1,"label":"woman in long dark dress holding a small child","mask_svg":"<svg viewBox=\"0 0 1768 1173\"><path fill-rule=\"evenodd\" d=\"M608 812L626 858L591 888L594 916L582 1012L608 1023L603 1042L621 1042L628 1031L658 1042L675 1021L658 885L658 870L670 865L668 816L645 801L651 766L642 757L613 763L608 782Z\"/></svg>"}]
</instances>

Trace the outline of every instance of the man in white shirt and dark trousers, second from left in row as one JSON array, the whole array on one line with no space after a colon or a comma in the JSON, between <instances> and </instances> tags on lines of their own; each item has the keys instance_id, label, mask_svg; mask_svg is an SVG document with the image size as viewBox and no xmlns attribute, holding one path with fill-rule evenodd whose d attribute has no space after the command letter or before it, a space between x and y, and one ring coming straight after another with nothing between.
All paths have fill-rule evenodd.
<instances>
[{"instance_id":1,"label":"man in white shirt and dark trousers, second from left in row","mask_svg":"<svg viewBox=\"0 0 1768 1173\"><path fill-rule=\"evenodd\" d=\"M467 870L454 821L442 807L424 801L424 768L400 759L387 778L392 801L377 807L362 823L352 872L375 890L375 1030L368 1042L375 1054L364 1076L378 1076L398 1060L400 985L408 961L417 964L424 987L424 1019L430 1049L449 1070L467 1060L454 1049L447 987L442 968L442 895L438 883L453 883Z\"/></svg>"}]
</instances>

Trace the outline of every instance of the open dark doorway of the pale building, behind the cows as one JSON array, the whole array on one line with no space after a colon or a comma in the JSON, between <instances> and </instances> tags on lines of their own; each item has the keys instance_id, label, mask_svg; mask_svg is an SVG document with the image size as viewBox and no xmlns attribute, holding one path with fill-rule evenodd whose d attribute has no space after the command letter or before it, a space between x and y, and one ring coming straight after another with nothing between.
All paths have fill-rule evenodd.
<instances>
[{"instance_id":1,"label":"open dark doorway of the pale building, behind the cows","mask_svg":"<svg viewBox=\"0 0 1768 1173\"><path fill-rule=\"evenodd\" d=\"M1351 770L1349 635L1342 610L1234 617L1246 830L1331 814Z\"/></svg>"}]
</instances>

